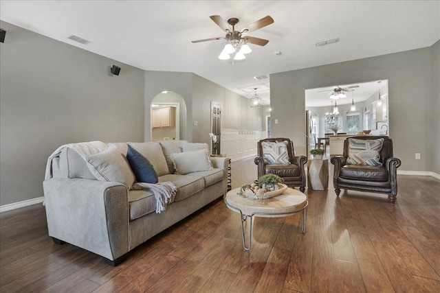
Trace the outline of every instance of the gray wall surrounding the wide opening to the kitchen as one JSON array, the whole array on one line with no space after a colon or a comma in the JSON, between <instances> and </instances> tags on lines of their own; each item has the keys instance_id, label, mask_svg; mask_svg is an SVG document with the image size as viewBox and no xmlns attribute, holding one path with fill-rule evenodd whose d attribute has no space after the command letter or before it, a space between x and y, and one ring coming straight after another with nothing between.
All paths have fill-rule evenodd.
<instances>
[{"instance_id":1,"label":"gray wall surrounding the wide opening to the kitchen","mask_svg":"<svg viewBox=\"0 0 440 293\"><path fill-rule=\"evenodd\" d=\"M305 155L305 89L388 80L390 137L394 155L402 161L399 169L434 170L433 141L438 142L440 135L432 130L439 123L439 104L432 102L432 91L437 92L436 99L439 92L432 85L432 61L437 58L438 64L438 56L432 58L431 51L438 53L436 46L271 74L272 120L278 119L272 124L272 137L292 138L296 152ZM415 160L416 152L421 160Z\"/></svg>"}]
</instances>

